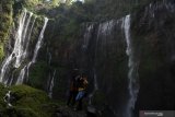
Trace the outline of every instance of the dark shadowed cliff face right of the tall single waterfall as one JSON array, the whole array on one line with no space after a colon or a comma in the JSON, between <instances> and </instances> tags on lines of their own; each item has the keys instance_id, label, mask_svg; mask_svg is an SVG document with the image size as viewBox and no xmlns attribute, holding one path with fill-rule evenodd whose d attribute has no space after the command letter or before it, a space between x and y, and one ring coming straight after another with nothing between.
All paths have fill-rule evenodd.
<instances>
[{"instance_id":1,"label":"dark shadowed cliff face right of the tall single waterfall","mask_svg":"<svg viewBox=\"0 0 175 117\"><path fill-rule=\"evenodd\" d=\"M174 109L174 7L156 1L140 10L132 21L139 56L140 93L137 109Z\"/></svg>"}]
</instances>

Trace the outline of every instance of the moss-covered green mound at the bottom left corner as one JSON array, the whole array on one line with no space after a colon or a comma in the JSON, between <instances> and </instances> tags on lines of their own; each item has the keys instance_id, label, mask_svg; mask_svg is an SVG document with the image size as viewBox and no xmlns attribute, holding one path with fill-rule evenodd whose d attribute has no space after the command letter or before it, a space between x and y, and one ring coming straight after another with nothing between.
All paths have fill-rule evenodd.
<instances>
[{"instance_id":1,"label":"moss-covered green mound at the bottom left corner","mask_svg":"<svg viewBox=\"0 0 175 117\"><path fill-rule=\"evenodd\" d=\"M3 102L3 96L8 91L12 91L11 104L8 107ZM15 85L4 87L0 84L0 116L1 117L51 117L54 108L47 94L43 91L27 85ZM56 104L55 104L56 105Z\"/></svg>"}]
</instances>

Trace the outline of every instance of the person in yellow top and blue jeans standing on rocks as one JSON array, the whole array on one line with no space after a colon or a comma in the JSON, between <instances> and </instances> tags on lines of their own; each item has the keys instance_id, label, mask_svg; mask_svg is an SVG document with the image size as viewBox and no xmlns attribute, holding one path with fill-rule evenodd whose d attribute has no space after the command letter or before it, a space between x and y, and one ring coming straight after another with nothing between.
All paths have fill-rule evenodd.
<instances>
[{"instance_id":1,"label":"person in yellow top and blue jeans standing on rocks","mask_svg":"<svg viewBox=\"0 0 175 117\"><path fill-rule=\"evenodd\" d=\"M82 110L82 101L85 96L86 93L86 87L88 87L88 77L83 74L79 80L78 80L78 95L75 97L75 102L78 102L78 106L74 108L74 110Z\"/></svg>"}]
</instances>

